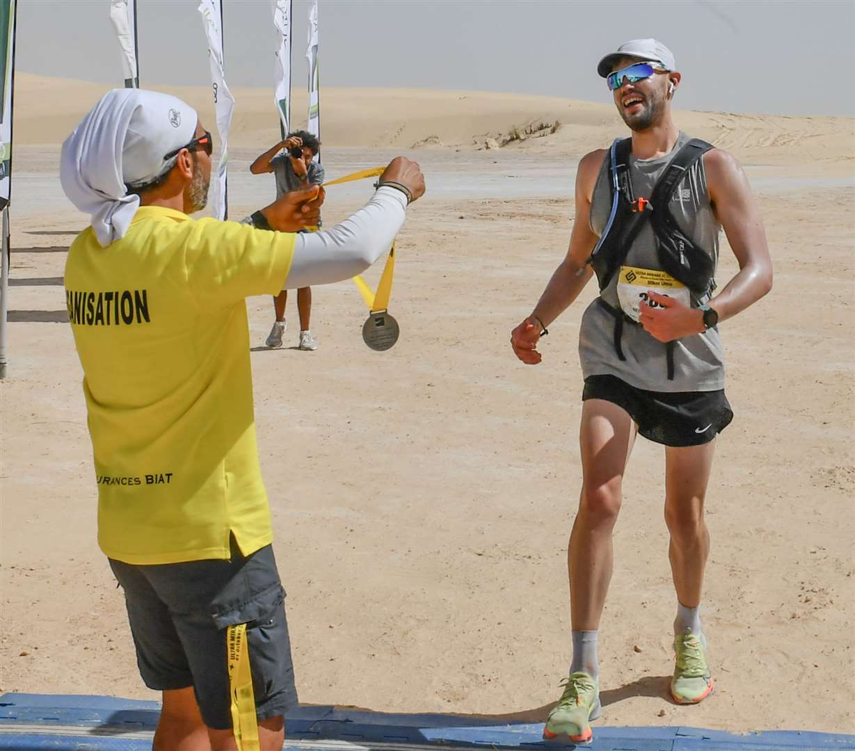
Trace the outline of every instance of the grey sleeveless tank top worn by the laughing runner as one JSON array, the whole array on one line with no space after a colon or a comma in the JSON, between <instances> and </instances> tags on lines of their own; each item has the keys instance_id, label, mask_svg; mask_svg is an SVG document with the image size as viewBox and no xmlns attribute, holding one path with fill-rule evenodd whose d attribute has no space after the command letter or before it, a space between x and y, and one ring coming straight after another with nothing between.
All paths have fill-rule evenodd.
<instances>
[{"instance_id":1,"label":"grey sleeveless tank top worn by the laughing runner","mask_svg":"<svg viewBox=\"0 0 855 751\"><path fill-rule=\"evenodd\" d=\"M653 186L668 167L671 158L690 138L681 132L674 149L656 159L636 159L630 155L629 173L634 197L651 196ZM598 237L609 218L610 179L610 158L606 154L591 202L591 229ZM670 209L682 232L700 248L711 253L717 263L721 226L710 205L702 159L696 161L686 177L677 184ZM649 221L635 238L624 264L662 270ZM600 293L613 308L620 308L617 277L617 273L613 274L609 284ZM703 305L708 299L709 296L699 299L693 295L693 307ZM715 391L724 388L724 356L717 328L675 342L673 380L668 378L665 344L654 339L641 326L626 322L621 340L626 360L621 361L615 349L614 331L615 319L594 300L582 314L579 331L579 357L584 378L613 375L636 388L649 391Z\"/></svg>"}]
</instances>

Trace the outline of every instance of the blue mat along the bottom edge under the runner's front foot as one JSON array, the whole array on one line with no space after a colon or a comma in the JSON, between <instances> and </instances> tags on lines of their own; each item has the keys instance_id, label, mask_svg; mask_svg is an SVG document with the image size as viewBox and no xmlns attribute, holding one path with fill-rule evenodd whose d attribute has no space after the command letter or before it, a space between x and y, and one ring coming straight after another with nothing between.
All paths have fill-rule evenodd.
<instances>
[{"instance_id":1,"label":"blue mat along the bottom edge under the runner's front foot","mask_svg":"<svg viewBox=\"0 0 855 751\"><path fill-rule=\"evenodd\" d=\"M151 748L154 701L109 696L0 695L0 749L142 751ZM442 747L562 748L545 743L543 725L440 714L383 714L299 707L286 718L293 751L439 751ZM563 746L563 748L574 748ZM594 727L591 751L855 751L855 736L774 731L734 736L694 728Z\"/></svg>"}]
</instances>

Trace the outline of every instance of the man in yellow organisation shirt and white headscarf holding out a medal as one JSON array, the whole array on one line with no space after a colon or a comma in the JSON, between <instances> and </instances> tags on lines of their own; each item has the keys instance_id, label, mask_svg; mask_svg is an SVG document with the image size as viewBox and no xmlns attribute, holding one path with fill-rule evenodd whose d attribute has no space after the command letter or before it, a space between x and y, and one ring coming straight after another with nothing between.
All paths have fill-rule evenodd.
<instances>
[{"instance_id":1,"label":"man in yellow organisation shirt and white headscarf holding out a medal","mask_svg":"<svg viewBox=\"0 0 855 751\"><path fill-rule=\"evenodd\" d=\"M220 751L257 732L259 748L279 749L297 693L245 297L360 273L388 249L424 180L398 157L368 206L298 236L317 221L316 186L244 223L192 220L211 151L179 99L130 89L97 103L62 147L63 189L91 215L69 249L66 301L85 373L98 543L125 590L140 673L163 692L154 748ZM251 730L232 701L233 634L249 648Z\"/></svg>"}]
</instances>

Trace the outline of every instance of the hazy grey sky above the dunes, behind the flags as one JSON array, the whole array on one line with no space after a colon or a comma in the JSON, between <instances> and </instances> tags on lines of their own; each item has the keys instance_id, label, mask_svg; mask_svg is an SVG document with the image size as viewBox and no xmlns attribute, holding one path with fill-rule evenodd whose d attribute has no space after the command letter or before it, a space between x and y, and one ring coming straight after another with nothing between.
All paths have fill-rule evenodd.
<instances>
[{"instance_id":1,"label":"hazy grey sky above the dunes, behind the flags","mask_svg":"<svg viewBox=\"0 0 855 751\"><path fill-rule=\"evenodd\" d=\"M196 0L138 0L141 85L209 84ZM292 85L309 3L294 0ZM270 0L224 0L230 85L272 86ZM323 86L516 91L610 102L600 56L656 37L685 109L855 115L855 0L319 0ZM23 0L17 69L121 85L109 0Z\"/></svg>"}]
</instances>

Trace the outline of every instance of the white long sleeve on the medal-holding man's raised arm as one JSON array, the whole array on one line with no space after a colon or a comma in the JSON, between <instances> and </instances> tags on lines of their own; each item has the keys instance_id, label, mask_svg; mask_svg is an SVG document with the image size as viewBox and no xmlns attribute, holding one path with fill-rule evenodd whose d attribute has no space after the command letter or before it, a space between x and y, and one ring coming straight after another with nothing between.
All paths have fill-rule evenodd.
<instances>
[{"instance_id":1,"label":"white long sleeve on the medal-holding man's raised arm","mask_svg":"<svg viewBox=\"0 0 855 751\"><path fill-rule=\"evenodd\" d=\"M404 193L380 187L349 219L321 232L300 232L282 289L328 285L363 273L392 247L406 206Z\"/></svg>"}]
</instances>

